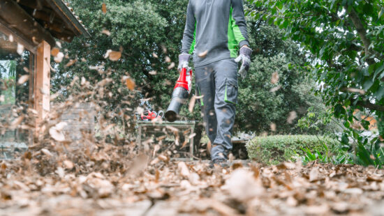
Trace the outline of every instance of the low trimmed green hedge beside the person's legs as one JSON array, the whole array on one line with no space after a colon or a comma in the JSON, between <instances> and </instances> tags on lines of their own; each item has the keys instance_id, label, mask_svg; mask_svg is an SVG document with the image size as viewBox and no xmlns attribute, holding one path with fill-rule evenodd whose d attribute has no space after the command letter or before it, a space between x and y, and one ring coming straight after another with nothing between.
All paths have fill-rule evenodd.
<instances>
[{"instance_id":1,"label":"low trimmed green hedge beside the person's legs","mask_svg":"<svg viewBox=\"0 0 384 216\"><path fill-rule=\"evenodd\" d=\"M317 149L325 153L325 146L333 146L339 142L330 137L314 135L276 135L255 137L246 144L248 156L252 160L265 164L279 164L283 161L295 161L297 154L304 155L302 148L309 151ZM313 152L313 151L312 151Z\"/></svg>"}]
</instances>

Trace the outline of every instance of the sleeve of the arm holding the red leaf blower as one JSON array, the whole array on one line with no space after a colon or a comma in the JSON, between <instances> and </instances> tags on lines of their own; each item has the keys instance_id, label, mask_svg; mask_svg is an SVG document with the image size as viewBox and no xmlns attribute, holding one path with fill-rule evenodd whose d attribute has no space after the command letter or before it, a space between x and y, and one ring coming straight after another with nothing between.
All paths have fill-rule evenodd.
<instances>
[{"instance_id":1,"label":"sleeve of the arm holding the red leaf blower","mask_svg":"<svg viewBox=\"0 0 384 216\"><path fill-rule=\"evenodd\" d=\"M186 23L182 41L182 54L192 54L193 49L195 49L195 28L196 20L195 15L193 14L193 5L191 0L189 0L188 6L186 8Z\"/></svg>"}]
</instances>

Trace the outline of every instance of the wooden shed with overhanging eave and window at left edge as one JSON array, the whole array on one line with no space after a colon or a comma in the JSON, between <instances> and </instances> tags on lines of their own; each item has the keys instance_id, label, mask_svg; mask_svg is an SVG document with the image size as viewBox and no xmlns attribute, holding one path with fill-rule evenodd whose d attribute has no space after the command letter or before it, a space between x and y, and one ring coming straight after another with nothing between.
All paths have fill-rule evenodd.
<instances>
[{"instance_id":1,"label":"wooden shed with overhanging eave and window at left edge","mask_svg":"<svg viewBox=\"0 0 384 216\"><path fill-rule=\"evenodd\" d=\"M28 144L38 135L50 111L51 50L57 41L80 35L90 37L61 0L0 0L0 117L5 121L15 105L37 113L36 130L6 130L0 118L0 144Z\"/></svg>"}]
</instances>

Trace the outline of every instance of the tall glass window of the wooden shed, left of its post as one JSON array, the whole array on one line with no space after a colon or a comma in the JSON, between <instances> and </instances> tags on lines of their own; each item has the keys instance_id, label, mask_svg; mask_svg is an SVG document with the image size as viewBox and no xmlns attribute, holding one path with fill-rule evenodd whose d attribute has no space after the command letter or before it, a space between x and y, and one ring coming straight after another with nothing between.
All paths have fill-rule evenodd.
<instances>
[{"instance_id":1,"label":"tall glass window of the wooden shed, left of its post","mask_svg":"<svg viewBox=\"0 0 384 216\"><path fill-rule=\"evenodd\" d=\"M30 106L33 75L34 54L0 31L0 159L12 157L29 143L29 130L10 125Z\"/></svg>"}]
</instances>

